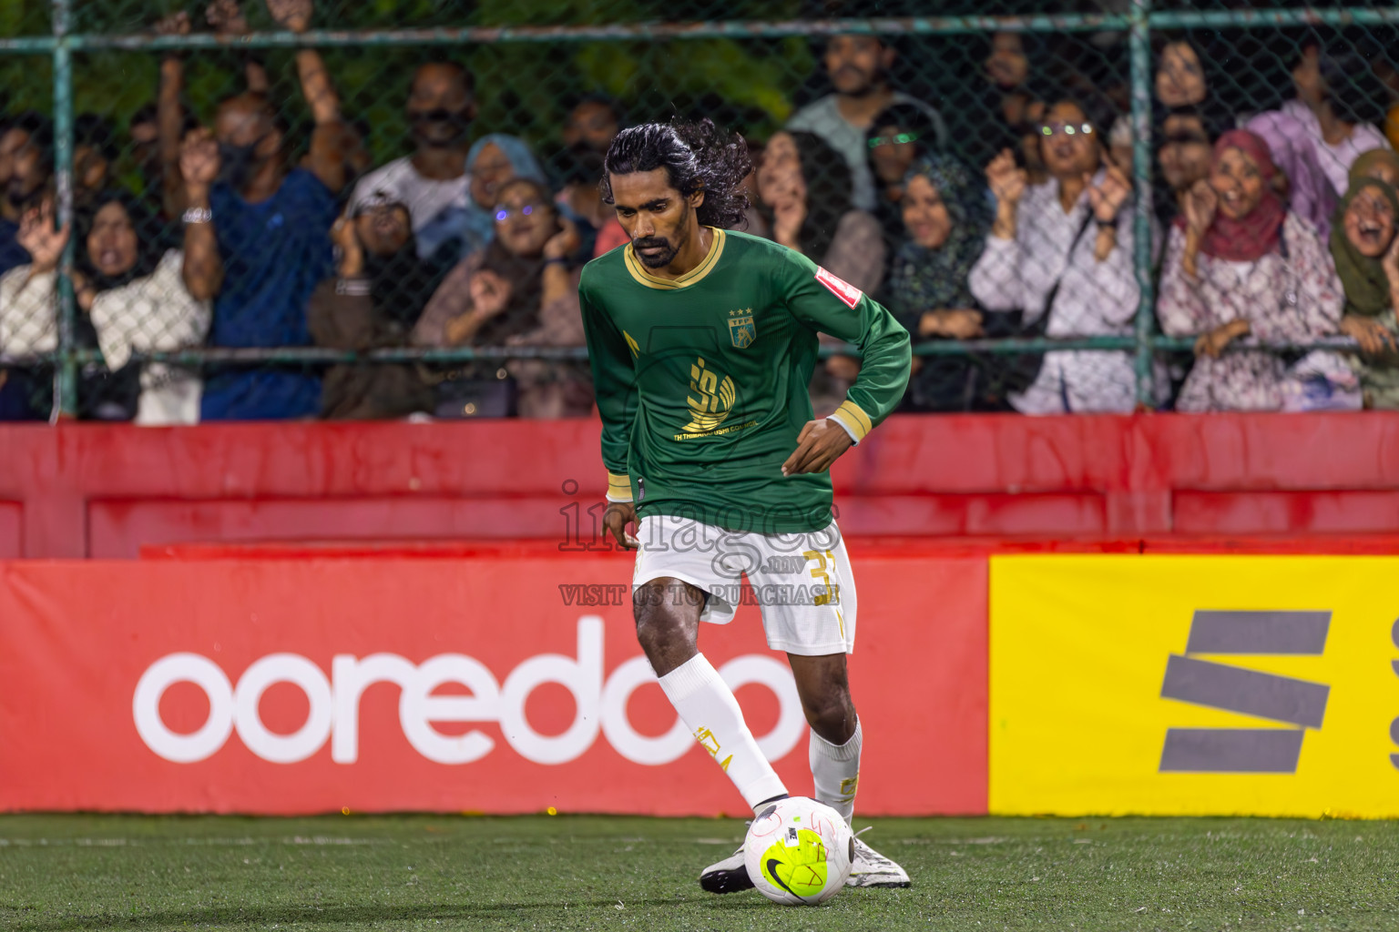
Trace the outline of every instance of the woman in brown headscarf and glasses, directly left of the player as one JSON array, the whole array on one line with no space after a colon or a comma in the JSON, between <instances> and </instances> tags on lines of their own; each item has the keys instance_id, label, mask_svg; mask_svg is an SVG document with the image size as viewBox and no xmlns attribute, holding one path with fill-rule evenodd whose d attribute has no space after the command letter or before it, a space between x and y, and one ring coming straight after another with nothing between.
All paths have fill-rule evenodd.
<instances>
[{"instance_id":1,"label":"woman in brown headscarf and glasses, directly left of the player","mask_svg":"<svg viewBox=\"0 0 1399 932\"><path fill-rule=\"evenodd\" d=\"M413 328L420 347L582 347L578 231L550 190L529 179L497 189L495 235L448 274ZM456 384L450 384L456 383ZM592 380L578 363L469 363L445 381L438 408L456 416L518 412L585 416Z\"/></svg>"}]
</instances>

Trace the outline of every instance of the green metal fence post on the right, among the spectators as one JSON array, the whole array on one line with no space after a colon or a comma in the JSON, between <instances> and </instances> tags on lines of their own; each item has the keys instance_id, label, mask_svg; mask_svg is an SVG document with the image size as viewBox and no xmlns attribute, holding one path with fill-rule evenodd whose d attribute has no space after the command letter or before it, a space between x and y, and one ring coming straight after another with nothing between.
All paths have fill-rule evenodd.
<instances>
[{"instance_id":1,"label":"green metal fence post on the right, among the spectators","mask_svg":"<svg viewBox=\"0 0 1399 932\"><path fill-rule=\"evenodd\" d=\"M1137 286L1142 303L1136 316L1136 388L1137 402L1150 405L1154 398L1151 380L1151 0L1132 0L1132 176L1136 186L1133 243Z\"/></svg>"}]
</instances>

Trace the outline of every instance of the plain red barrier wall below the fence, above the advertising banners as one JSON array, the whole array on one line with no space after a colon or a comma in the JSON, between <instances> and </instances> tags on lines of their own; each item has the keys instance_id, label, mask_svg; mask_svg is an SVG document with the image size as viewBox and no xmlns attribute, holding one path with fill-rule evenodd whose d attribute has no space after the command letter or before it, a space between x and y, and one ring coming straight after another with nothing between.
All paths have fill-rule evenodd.
<instances>
[{"instance_id":1,"label":"plain red barrier wall below the fence, above the advertising banners","mask_svg":"<svg viewBox=\"0 0 1399 932\"><path fill-rule=\"evenodd\" d=\"M0 450L0 558L560 539L560 509L603 492L592 421L8 426ZM852 535L1388 532L1399 530L1399 414L905 415L834 475Z\"/></svg>"}]
</instances>

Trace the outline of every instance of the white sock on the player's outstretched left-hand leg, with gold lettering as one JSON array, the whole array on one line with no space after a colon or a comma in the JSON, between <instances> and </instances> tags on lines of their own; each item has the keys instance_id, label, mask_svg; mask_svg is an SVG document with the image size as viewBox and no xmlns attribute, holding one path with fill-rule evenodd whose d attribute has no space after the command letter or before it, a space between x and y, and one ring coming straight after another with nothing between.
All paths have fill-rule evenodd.
<instances>
[{"instance_id":1,"label":"white sock on the player's outstretched left-hand leg, with gold lettering","mask_svg":"<svg viewBox=\"0 0 1399 932\"><path fill-rule=\"evenodd\" d=\"M786 795L782 780L744 724L733 690L704 654L695 654L662 676L660 687L690 734L723 767L750 806Z\"/></svg>"}]
</instances>

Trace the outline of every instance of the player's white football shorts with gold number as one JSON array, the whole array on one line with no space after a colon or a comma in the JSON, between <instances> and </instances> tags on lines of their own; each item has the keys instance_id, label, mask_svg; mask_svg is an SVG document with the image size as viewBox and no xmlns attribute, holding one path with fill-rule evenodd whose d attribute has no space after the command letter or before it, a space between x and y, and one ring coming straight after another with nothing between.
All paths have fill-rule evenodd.
<instances>
[{"instance_id":1,"label":"player's white football shorts with gold number","mask_svg":"<svg viewBox=\"0 0 1399 932\"><path fill-rule=\"evenodd\" d=\"M709 594L701 622L727 625L740 601L757 602L772 650L803 657L855 651L855 574L835 521L809 534L758 534L660 514L641 518L637 539L634 598L644 584L669 576Z\"/></svg>"}]
</instances>

